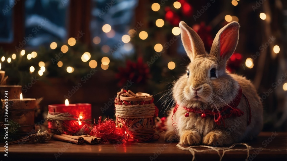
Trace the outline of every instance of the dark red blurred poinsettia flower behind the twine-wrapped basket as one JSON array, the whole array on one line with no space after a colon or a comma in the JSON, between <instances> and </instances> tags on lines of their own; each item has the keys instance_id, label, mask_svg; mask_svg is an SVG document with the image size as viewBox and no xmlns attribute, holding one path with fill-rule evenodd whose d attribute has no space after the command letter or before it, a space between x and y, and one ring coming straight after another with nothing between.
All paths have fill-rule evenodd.
<instances>
[{"instance_id":1,"label":"dark red blurred poinsettia flower behind the twine-wrapped basket","mask_svg":"<svg viewBox=\"0 0 287 161\"><path fill-rule=\"evenodd\" d=\"M142 58L138 58L137 62L127 60L126 67L119 67L119 73L116 78L120 79L118 86L122 87L127 81L137 84L145 84L150 78L150 69L148 65L143 62Z\"/></svg>"}]
</instances>

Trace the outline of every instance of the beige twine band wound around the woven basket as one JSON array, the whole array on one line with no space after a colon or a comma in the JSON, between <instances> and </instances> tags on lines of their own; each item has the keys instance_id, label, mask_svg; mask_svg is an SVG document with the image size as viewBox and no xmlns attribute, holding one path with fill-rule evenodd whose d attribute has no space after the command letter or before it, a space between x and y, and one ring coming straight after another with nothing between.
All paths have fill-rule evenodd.
<instances>
[{"instance_id":1,"label":"beige twine band wound around the woven basket","mask_svg":"<svg viewBox=\"0 0 287 161\"><path fill-rule=\"evenodd\" d=\"M151 118L154 117L154 103L146 105L115 105L116 116L123 118Z\"/></svg>"}]
</instances>

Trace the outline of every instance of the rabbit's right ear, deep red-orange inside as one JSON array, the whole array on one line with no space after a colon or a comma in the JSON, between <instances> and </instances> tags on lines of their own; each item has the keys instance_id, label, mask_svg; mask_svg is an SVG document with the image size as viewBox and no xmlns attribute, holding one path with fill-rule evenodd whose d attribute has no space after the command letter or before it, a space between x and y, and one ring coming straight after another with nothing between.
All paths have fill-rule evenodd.
<instances>
[{"instance_id":1,"label":"rabbit's right ear, deep red-orange inside","mask_svg":"<svg viewBox=\"0 0 287 161\"><path fill-rule=\"evenodd\" d=\"M239 37L239 23L236 21L228 23L216 34L210 55L214 55L218 62L224 62L231 57L236 49Z\"/></svg>"}]
</instances>

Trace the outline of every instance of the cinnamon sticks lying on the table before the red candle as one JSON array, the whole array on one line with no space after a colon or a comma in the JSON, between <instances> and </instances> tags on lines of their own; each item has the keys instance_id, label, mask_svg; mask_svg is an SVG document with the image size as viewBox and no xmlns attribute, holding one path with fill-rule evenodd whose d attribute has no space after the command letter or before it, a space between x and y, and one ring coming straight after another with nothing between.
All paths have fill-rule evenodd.
<instances>
[{"instance_id":1,"label":"cinnamon sticks lying on the table before the red candle","mask_svg":"<svg viewBox=\"0 0 287 161\"><path fill-rule=\"evenodd\" d=\"M54 134L52 137L55 140L70 142L73 144L83 144L84 142L88 144L100 144L102 142L102 139L90 135L71 136L66 134L61 135Z\"/></svg>"}]
</instances>

